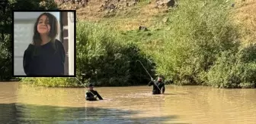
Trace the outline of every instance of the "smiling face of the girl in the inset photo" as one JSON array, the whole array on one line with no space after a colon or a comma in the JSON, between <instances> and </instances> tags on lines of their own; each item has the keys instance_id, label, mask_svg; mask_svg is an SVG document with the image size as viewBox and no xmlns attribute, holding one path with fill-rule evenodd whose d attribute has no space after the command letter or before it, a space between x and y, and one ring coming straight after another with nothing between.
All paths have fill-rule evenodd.
<instances>
[{"instance_id":1,"label":"smiling face of the girl in the inset photo","mask_svg":"<svg viewBox=\"0 0 256 124\"><path fill-rule=\"evenodd\" d=\"M50 32L50 23L46 15L43 15L42 17L40 17L37 23L37 31L40 34L48 34Z\"/></svg>"}]
</instances>

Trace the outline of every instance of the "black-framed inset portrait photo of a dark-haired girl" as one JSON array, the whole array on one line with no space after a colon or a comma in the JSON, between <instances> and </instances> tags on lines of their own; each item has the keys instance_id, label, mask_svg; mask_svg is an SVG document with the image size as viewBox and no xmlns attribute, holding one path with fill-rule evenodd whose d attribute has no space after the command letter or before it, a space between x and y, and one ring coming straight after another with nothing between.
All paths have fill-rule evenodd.
<instances>
[{"instance_id":1,"label":"black-framed inset portrait photo of a dark-haired girl","mask_svg":"<svg viewBox=\"0 0 256 124\"><path fill-rule=\"evenodd\" d=\"M13 11L14 76L75 76L75 11Z\"/></svg>"}]
</instances>

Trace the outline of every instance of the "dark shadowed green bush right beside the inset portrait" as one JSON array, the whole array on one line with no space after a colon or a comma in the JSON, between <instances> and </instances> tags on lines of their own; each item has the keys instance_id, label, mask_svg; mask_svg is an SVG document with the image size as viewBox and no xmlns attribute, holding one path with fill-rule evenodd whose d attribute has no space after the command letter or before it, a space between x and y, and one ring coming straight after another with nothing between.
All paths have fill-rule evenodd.
<instances>
[{"instance_id":1,"label":"dark shadowed green bush right beside the inset portrait","mask_svg":"<svg viewBox=\"0 0 256 124\"><path fill-rule=\"evenodd\" d=\"M118 33L94 23L77 24L77 70L81 78L95 85L139 85L149 82L149 76L136 63L142 64L154 75L153 63L137 46L123 42Z\"/></svg>"}]
</instances>

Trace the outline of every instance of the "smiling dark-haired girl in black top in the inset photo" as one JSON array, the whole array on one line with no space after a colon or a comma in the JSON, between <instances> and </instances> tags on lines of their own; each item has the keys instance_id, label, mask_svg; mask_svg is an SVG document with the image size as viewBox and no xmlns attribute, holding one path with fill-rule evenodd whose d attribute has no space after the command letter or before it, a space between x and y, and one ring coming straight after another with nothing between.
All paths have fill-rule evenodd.
<instances>
[{"instance_id":1,"label":"smiling dark-haired girl in black top in the inset photo","mask_svg":"<svg viewBox=\"0 0 256 124\"><path fill-rule=\"evenodd\" d=\"M59 24L56 17L43 13L34 25L33 41L24 51L23 67L27 76L63 76L65 50L56 39Z\"/></svg>"}]
</instances>

